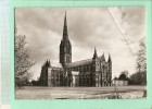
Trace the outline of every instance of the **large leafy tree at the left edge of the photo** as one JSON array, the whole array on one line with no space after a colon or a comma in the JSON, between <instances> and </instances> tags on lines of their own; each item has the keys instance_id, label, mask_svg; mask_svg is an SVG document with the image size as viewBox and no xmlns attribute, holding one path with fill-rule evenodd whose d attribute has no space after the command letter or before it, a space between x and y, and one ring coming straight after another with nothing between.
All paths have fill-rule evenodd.
<instances>
[{"instance_id":1,"label":"large leafy tree at the left edge of the photo","mask_svg":"<svg viewBox=\"0 0 152 109\"><path fill-rule=\"evenodd\" d=\"M26 48L25 39L25 35L17 35L15 27L15 88L21 88L29 81L31 74L28 70L35 63Z\"/></svg>"}]
</instances>

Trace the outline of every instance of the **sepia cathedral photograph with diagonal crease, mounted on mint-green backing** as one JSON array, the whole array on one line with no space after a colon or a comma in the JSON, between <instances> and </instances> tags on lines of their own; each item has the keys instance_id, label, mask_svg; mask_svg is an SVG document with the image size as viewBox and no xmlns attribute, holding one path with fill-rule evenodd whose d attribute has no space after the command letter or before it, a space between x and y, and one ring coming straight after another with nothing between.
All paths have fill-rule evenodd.
<instances>
[{"instance_id":1,"label":"sepia cathedral photograph with diagonal crease, mounted on mint-green backing","mask_svg":"<svg viewBox=\"0 0 152 109\"><path fill-rule=\"evenodd\" d=\"M144 7L15 8L15 99L147 98Z\"/></svg>"}]
</instances>

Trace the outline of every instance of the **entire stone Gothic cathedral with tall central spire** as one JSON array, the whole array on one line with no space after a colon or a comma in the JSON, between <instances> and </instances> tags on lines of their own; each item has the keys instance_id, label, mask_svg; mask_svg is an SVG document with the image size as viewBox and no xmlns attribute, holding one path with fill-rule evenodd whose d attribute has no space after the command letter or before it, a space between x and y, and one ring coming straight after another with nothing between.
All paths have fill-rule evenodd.
<instances>
[{"instance_id":1,"label":"entire stone Gothic cathedral with tall central spire","mask_svg":"<svg viewBox=\"0 0 152 109\"><path fill-rule=\"evenodd\" d=\"M40 86L111 86L112 59L107 61L94 52L92 58L72 62L72 44L68 37L66 13L64 17L63 37L60 44L60 63L47 60L41 66L39 78Z\"/></svg>"}]
</instances>

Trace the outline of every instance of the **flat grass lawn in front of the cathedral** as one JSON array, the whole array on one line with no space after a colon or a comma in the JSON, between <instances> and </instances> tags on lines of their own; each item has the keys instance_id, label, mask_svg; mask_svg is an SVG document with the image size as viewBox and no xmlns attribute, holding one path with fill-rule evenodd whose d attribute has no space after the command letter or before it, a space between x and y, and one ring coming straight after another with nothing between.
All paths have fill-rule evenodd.
<instances>
[{"instance_id":1,"label":"flat grass lawn in front of the cathedral","mask_svg":"<svg viewBox=\"0 0 152 109\"><path fill-rule=\"evenodd\" d=\"M15 92L16 99L75 99L104 98L116 93L143 92L145 86L117 87L34 87L25 86Z\"/></svg>"}]
</instances>

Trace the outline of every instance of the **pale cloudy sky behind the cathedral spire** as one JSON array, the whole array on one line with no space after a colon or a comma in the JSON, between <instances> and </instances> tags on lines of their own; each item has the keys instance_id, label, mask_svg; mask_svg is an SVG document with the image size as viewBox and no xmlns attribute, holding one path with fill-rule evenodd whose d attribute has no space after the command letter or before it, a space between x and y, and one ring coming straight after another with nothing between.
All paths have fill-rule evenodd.
<instances>
[{"instance_id":1,"label":"pale cloudy sky behind the cathedral spire","mask_svg":"<svg viewBox=\"0 0 152 109\"><path fill-rule=\"evenodd\" d=\"M36 61L30 69L35 80L47 59L59 62L65 11L73 62L92 58L96 47L98 56L104 52L106 60L111 53L113 77L124 70L129 74L136 71L139 40L145 36L143 7L17 8L15 23L18 34L26 35L27 47Z\"/></svg>"}]
</instances>

